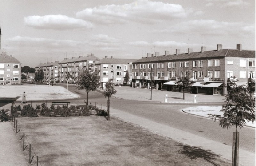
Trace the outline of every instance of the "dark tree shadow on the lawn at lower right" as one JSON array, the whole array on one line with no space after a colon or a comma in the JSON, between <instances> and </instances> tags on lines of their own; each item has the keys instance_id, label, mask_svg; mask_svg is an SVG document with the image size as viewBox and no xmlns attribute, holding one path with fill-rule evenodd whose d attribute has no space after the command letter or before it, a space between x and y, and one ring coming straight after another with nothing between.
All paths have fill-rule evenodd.
<instances>
[{"instance_id":1,"label":"dark tree shadow on the lawn at lower right","mask_svg":"<svg viewBox=\"0 0 256 166\"><path fill-rule=\"evenodd\" d=\"M184 144L179 144L178 146L182 147L182 150L180 150L180 153L185 154L188 156L191 160L197 159L197 158L203 158L207 161L215 160L217 157L220 157L220 155L214 154L211 150L204 150L198 147L191 147Z\"/></svg>"}]
</instances>

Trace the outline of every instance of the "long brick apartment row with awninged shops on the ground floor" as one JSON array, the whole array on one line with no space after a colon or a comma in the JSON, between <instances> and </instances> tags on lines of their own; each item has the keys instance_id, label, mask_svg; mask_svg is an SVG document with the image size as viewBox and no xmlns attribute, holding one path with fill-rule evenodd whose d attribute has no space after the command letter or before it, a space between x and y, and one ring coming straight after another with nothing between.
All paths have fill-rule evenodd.
<instances>
[{"instance_id":1,"label":"long brick apartment row with awninged shops on the ground floor","mask_svg":"<svg viewBox=\"0 0 256 166\"><path fill-rule=\"evenodd\" d=\"M159 56L159 53L148 54L132 64L132 86L167 91L180 91L180 77L191 77L187 91L201 94L226 94L227 85L234 76L238 85L246 85L249 79L255 79L255 51L242 50L237 44L236 49L222 49L218 44L216 50L207 51L201 47L200 52L188 48L187 53Z\"/></svg>"}]
</instances>

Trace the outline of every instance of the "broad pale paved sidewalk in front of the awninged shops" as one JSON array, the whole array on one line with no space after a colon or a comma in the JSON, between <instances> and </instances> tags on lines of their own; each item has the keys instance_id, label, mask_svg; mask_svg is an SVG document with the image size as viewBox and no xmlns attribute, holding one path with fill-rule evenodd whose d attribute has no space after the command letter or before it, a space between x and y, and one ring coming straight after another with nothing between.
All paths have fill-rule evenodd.
<instances>
[{"instance_id":1,"label":"broad pale paved sidewalk in front of the awninged shops","mask_svg":"<svg viewBox=\"0 0 256 166\"><path fill-rule=\"evenodd\" d=\"M116 98L127 100L150 101L151 91L149 89L139 89L132 87L114 87L117 93ZM102 90L100 90L102 91ZM164 102L165 94L167 94L167 102L194 102L196 95L196 102L224 102L224 96L221 95L206 95L206 94L191 94L185 93L185 100L183 100L182 92L154 90L152 89L152 101Z\"/></svg>"}]
</instances>

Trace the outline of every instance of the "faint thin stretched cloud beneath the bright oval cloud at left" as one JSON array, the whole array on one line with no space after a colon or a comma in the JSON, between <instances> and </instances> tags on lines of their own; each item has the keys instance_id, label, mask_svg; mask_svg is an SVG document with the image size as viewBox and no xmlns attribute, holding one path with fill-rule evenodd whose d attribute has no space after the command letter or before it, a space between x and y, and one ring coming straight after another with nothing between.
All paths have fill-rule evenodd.
<instances>
[{"instance_id":1,"label":"faint thin stretched cloud beneath the bright oval cloud at left","mask_svg":"<svg viewBox=\"0 0 256 166\"><path fill-rule=\"evenodd\" d=\"M35 38L35 37L21 37L15 36L9 38L8 41L12 41L12 44L28 46L28 47L47 47L47 48L62 48L62 47L78 47L85 43L73 41L73 40L55 40L47 38Z\"/></svg>"}]
</instances>

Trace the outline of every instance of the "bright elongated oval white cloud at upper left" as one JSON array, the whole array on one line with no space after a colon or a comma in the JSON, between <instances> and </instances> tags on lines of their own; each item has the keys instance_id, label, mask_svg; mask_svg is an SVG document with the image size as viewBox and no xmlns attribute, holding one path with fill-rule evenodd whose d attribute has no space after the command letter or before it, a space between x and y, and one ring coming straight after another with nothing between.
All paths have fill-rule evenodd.
<instances>
[{"instance_id":1,"label":"bright elongated oval white cloud at upper left","mask_svg":"<svg viewBox=\"0 0 256 166\"><path fill-rule=\"evenodd\" d=\"M91 22L75 19L64 15L28 16L24 18L25 25L38 29L77 29L92 28Z\"/></svg>"}]
</instances>

